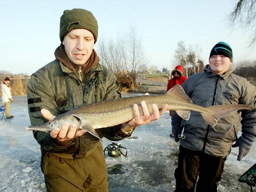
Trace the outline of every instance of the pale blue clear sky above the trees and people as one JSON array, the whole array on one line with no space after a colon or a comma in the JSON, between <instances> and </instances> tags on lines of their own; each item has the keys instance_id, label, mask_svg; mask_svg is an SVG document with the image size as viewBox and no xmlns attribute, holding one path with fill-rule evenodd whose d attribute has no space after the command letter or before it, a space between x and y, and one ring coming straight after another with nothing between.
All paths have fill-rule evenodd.
<instances>
[{"instance_id":1,"label":"pale blue clear sky above the trees and people","mask_svg":"<svg viewBox=\"0 0 256 192\"><path fill-rule=\"evenodd\" d=\"M247 48L249 33L228 27L227 17L236 1L0 0L0 70L31 75L54 60L53 53L60 45L60 16L65 9L73 8L93 13L99 24L99 42L103 36L105 40L115 38L130 26L136 27L148 66L171 69L174 50L181 40L186 45L198 44L206 64L219 41L230 44L234 63L256 60L255 49Z\"/></svg>"}]
</instances>

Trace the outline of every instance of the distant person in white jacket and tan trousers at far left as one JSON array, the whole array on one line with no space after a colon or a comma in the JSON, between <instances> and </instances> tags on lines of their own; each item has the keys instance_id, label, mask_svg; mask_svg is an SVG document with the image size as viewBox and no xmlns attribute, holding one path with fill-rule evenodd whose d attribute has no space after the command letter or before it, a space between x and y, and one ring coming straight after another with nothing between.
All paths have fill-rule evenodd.
<instances>
[{"instance_id":1,"label":"distant person in white jacket and tan trousers at far left","mask_svg":"<svg viewBox=\"0 0 256 192\"><path fill-rule=\"evenodd\" d=\"M10 79L6 77L1 83L1 91L2 91L2 102L5 105L5 116L6 118L13 118L10 111L10 102L12 102L12 92L10 86Z\"/></svg>"}]
</instances>

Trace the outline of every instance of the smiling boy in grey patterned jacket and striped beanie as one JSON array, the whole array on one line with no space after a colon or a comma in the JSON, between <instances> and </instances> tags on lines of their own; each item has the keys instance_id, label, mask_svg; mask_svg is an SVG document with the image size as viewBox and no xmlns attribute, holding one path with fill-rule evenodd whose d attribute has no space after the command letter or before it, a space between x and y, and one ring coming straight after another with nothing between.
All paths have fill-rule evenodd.
<instances>
[{"instance_id":1,"label":"smiling boy in grey patterned jacket and striped beanie","mask_svg":"<svg viewBox=\"0 0 256 192\"><path fill-rule=\"evenodd\" d=\"M192 111L188 121L173 112L172 132L175 141L180 141L178 167L174 173L175 192L194 192L195 186L196 192L217 192L217 182L221 180L231 146L239 147L238 161L252 146L256 135L256 88L232 73L232 62L231 47L224 42L217 43L210 52L209 65L204 67L204 72L188 77L182 88L198 105L254 106L252 110L241 111L242 136L237 138L239 111L222 117L214 126L207 124L198 112Z\"/></svg>"}]
</instances>

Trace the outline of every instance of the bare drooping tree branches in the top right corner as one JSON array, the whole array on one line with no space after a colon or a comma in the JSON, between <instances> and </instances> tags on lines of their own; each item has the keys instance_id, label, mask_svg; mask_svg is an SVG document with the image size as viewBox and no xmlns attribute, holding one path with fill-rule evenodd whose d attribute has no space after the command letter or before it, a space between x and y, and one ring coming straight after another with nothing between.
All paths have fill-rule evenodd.
<instances>
[{"instance_id":1,"label":"bare drooping tree branches in the top right corner","mask_svg":"<svg viewBox=\"0 0 256 192\"><path fill-rule=\"evenodd\" d=\"M251 33L249 47L256 43L256 0L239 0L229 15L230 26L236 23Z\"/></svg>"}]
</instances>

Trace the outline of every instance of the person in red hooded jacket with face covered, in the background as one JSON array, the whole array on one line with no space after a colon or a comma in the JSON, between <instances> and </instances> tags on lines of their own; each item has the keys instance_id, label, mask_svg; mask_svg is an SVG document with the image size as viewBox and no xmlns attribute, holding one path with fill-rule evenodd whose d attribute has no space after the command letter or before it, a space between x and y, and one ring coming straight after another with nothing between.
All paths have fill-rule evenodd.
<instances>
[{"instance_id":1,"label":"person in red hooded jacket with face covered, in the background","mask_svg":"<svg viewBox=\"0 0 256 192\"><path fill-rule=\"evenodd\" d=\"M176 84L181 85L187 79L187 77L185 77L183 74L184 74L183 67L181 65L177 65L175 69L172 70L173 78L169 80L166 91L170 90ZM171 114L172 114L172 110L170 110L170 116ZM173 137L174 136L173 133L171 133L170 136Z\"/></svg>"}]
</instances>

